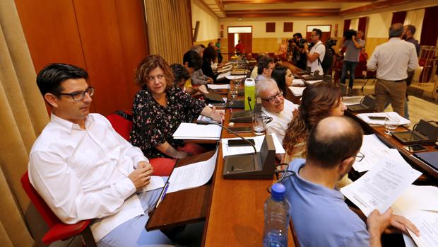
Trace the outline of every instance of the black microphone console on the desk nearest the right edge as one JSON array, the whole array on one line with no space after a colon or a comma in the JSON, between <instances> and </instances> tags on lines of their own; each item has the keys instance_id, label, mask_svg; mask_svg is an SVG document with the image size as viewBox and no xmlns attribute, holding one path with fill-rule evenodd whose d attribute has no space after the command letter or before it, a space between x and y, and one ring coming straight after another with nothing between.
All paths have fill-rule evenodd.
<instances>
[{"instance_id":1,"label":"black microphone console on the desk nearest the right edge","mask_svg":"<svg viewBox=\"0 0 438 247\"><path fill-rule=\"evenodd\" d=\"M420 120L413 131L393 132L392 136L406 145L434 144L438 138L438 125L436 122Z\"/></svg>"}]
</instances>

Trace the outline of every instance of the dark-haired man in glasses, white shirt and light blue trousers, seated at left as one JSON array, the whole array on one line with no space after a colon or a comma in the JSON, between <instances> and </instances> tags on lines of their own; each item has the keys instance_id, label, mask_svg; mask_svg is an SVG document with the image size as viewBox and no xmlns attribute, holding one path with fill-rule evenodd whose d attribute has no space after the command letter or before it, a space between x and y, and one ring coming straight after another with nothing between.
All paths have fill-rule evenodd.
<instances>
[{"instance_id":1,"label":"dark-haired man in glasses, white shirt and light blue trousers, seated at left","mask_svg":"<svg viewBox=\"0 0 438 247\"><path fill-rule=\"evenodd\" d=\"M90 114L94 88L87 80L85 70L69 64L49 64L38 74L52 115L30 151L30 182L62 222L95 219L97 246L172 244L145 229L160 194L142 192L152 166L105 117Z\"/></svg>"}]
</instances>

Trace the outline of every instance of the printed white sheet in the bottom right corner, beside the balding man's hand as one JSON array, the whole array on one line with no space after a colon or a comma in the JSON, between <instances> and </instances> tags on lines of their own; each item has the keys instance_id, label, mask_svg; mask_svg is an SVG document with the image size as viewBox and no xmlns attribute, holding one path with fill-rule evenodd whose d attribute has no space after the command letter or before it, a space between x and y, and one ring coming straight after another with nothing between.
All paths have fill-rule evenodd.
<instances>
[{"instance_id":1,"label":"printed white sheet in the bottom right corner, beside the balding man's hand","mask_svg":"<svg viewBox=\"0 0 438 247\"><path fill-rule=\"evenodd\" d=\"M418 247L438 246L438 213L418 210L407 215L406 218L420 231L418 237L408 229Z\"/></svg>"}]
</instances>

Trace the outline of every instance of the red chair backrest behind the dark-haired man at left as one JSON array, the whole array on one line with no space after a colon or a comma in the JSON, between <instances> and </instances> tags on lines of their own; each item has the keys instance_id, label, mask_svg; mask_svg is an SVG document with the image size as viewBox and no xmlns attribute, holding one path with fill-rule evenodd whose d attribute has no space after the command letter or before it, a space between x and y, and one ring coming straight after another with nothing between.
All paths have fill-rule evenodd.
<instances>
[{"instance_id":1,"label":"red chair backrest behind the dark-haired man at left","mask_svg":"<svg viewBox=\"0 0 438 247\"><path fill-rule=\"evenodd\" d=\"M23 186L25 193L30 198L30 201L33 203L33 205L35 205L38 212L40 212L42 218L45 220L47 225L49 225L49 227L61 222L61 220L52 212L52 209L50 209L50 207L42 199L40 194L37 193L37 190L33 188L29 180L28 171L26 171L21 177L21 185Z\"/></svg>"}]
</instances>

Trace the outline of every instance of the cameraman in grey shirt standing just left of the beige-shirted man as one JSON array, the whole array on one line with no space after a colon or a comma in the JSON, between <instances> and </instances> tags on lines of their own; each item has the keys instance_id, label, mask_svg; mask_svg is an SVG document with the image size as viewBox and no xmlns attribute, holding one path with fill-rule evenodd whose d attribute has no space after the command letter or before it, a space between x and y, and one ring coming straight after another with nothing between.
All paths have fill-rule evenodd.
<instances>
[{"instance_id":1,"label":"cameraman in grey shirt standing just left of the beige-shirted man","mask_svg":"<svg viewBox=\"0 0 438 247\"><path fill-rule=\"evenodd\" d=\"M348 83L348 92L351 93L353 90L353 83L355 80L355 69L357 63L359 62L359 54L362 47L365 47L365 40L362 40L362 31L357 31L350 29L344 32L344 42L342 47L345 47L345 57L342 64L342 76L341 84L345 84L345 79L347 79L347 71L350 71L350 82Z\"/></svg>"}]
</instances>

